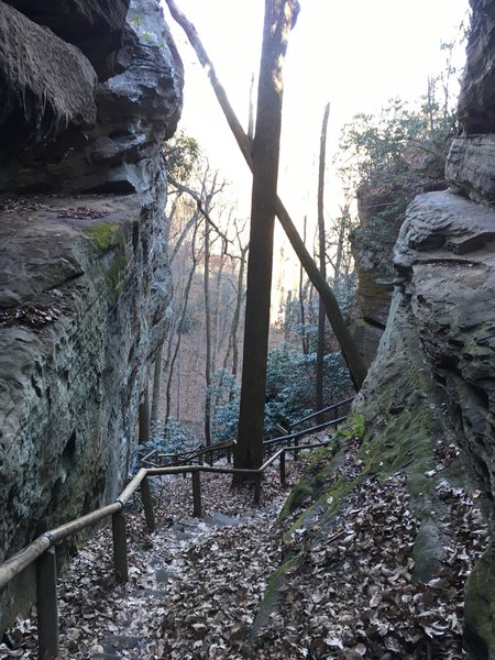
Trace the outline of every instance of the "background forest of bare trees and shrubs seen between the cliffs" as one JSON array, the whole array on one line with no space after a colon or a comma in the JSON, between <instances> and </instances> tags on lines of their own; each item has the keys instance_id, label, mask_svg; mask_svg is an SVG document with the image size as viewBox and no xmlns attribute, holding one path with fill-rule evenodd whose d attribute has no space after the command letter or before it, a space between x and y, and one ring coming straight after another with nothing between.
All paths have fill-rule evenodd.
<instances>
[{"instance_id":1,"label":"background forest of bare trees and shrubs seen between the cliffs","mask_svg":"<svg viewBox=\"0 0 495 660\"><path fill-rule=\"evenodd\" d=\"M424 98L415 103L391 99L380 113L355 116L344 127L338 153L330 163L323 160L320 184L337 172L340 201L332 217L327 209L322 213L322 238L317 199L315 216L298 219L305 244L320 267L324 264L326 278L351 327L358 316L353 250L380 241L391 224L398 231L416 194L446 187L444 158L457 130L460 78L452 61L466 37L463 25L459 35L457 42L442 44L444 68L427 80ZM174 301L161 359L150 378L152 432L142 451L182 450L232 438L239 416L249 219L239 217L228 179L194 138L180 134L164 152ZM373 217L365 223L358 213L360 197L374 200ZM329 405L353 392L326 322L317 394L319 296L301 267L285 276L286 250L282 245L275 257L278 271L272 287L266 437L276 433L278 425L317 409L317 400Z\"/></svg>"}]
</instances>

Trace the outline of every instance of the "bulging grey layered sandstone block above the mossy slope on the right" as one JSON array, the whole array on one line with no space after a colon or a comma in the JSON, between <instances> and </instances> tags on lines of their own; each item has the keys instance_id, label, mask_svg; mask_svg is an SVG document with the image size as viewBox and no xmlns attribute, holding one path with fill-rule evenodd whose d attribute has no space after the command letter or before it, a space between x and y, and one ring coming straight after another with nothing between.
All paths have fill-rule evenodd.
<instances>
[{"instance_id":1,"label":"bulging grey layered sandstone block above the mossy slope on the right","mask_svg":"<svg viewBox=\"0 0 495 660\"><path fill-rule=\"evenodd\" d=\"M458 437L495 496L495 211L449 193L418 197L395 263Z\"/></svg>"}]
</instances>

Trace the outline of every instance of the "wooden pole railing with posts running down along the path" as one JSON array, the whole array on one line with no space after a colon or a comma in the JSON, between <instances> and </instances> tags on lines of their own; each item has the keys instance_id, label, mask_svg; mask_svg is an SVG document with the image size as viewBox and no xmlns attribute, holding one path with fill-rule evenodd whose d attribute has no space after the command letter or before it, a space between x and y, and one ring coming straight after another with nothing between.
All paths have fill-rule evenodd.
<instances>
[{"instance_id":1,"label":"wooden pole railing with posts running down along the path","mask_svg":"<svg viewBox=\"0 0 495 660\"><path fill-rule=\"evenodd\" d=\"M316 414L315 414L316 415ZM312 416L309 416L312 417ZM324 425L319 425L304 431L290 433L289 436L266 440L265 446L275 442L287 442L290 439L296 441L304 435L315 432L328 426L340 424L344 417L331 420ZM300 421L300 420L299 420ZM87 529L111 516L112 520L112 544L113 544L113 565L118 580L127 582L128 580L128 549L125 534L125 514L124 506L134 495L138 488L141 490L141 499L143 503L146 526L150 531L155 529L155 515L153 509L153 499L150 488L152 476L162 476L167 474L191 474L193 481L193 515L201 516L201 472L215 472L218 474L243 474L251 476L254 481L254 504L260 504L262 476L263 473L278 459L280 483L286 481L285 454L287 452L297 452L302 449L315 449L324 447L331 442L331 438L323 442L299 446L297 442L293 446L283 447L274 453L261 468L256 470L244 470L224 466L211 465L175 465L167 468L141 468L138 474L125 486L119 497L112 504L103 506L76 520L66 522L50 531L45 531L37 537L30 546L0 564L0 591L9 584L16 575L22 573L32 563L35 563L36 572L36 606L37 606L37 636L38 636L38 658L52 660L58 656L58 606L57 606L57 571L55 546L62 543L78 531ZM219 443L206 451L218 451L220 444L226 444L222 449L230 449L231 444ZM202 451L202 450L201 450Z\"/></svg>"}]
</instances>

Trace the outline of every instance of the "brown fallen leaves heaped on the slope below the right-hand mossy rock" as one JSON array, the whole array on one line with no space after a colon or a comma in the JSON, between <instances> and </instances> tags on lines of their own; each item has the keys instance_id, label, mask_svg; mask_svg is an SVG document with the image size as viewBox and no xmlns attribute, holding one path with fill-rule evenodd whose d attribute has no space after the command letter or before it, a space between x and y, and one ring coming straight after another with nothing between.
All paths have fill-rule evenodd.
<instances>
[{"instance_id":1,"label":"brown fallen leaves heaped on the slope below the right-hand mossy rock","mask_svg":"<svg viewBox=\"0 0 495 660\"><path fill-rule=\"evenodd\" d=\"M256 657L462 658L463 583L487 529L462 488L442 482L438 492L452 547L428 584L414 579L411 550L421 521L411 513L405 474L363 481L332 534L320 534L317 544L295 534L297 570L284 578ZM284 656L287 626L297 635Z\"/></svg>"}]
</instances>

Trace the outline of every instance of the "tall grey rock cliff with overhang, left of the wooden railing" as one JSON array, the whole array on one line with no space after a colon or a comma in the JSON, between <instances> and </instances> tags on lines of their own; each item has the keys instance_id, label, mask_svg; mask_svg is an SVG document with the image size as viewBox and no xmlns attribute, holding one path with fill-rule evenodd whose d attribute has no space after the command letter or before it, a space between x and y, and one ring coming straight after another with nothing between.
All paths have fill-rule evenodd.
<instances>
[{"instance_id":1,"label":"tall grey rock cliff with overhang, left of the wooden railing","mask_svg":"<svg viewBox=\"0 0 495 660\"><path fill-rule=\"evenodd\" d=\"M157 0L0 1L0 35L1 561L128 477L183 68Z\"/></svg>"}]
</instances>

